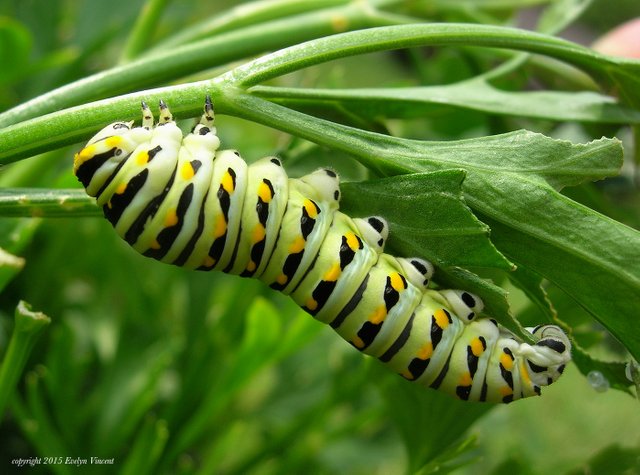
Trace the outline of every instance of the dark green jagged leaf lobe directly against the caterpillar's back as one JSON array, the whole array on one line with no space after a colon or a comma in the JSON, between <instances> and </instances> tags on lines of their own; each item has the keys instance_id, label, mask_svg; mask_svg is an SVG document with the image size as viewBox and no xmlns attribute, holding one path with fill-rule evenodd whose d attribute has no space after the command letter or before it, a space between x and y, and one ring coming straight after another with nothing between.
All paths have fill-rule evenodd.
<instances>
[{"instance_id":1,"label":"dark green jagged leaf lobe directly against the caterpillar's back","mask_svg":"<svg viewBox=\"0 0 640 475\"><path fill-rule=\"evenodd\" d=\"M447 170L343 183L340 206L350 216L384 217L388 245L401 255L420 255L438 266L511 269L464 203L464 176Z\"/></svg>"}]
</instances>

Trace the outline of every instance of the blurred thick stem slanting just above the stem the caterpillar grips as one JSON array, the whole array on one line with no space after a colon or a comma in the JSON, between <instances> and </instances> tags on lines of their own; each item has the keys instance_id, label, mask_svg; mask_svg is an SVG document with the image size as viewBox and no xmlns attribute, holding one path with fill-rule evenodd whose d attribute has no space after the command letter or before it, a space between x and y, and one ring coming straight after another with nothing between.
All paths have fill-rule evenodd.
<instances>
[{"instance_id":1,"label":"blurred thick stem slanting just above the stem the caterpillar grips","mask_svg":"<svg viewBox=\"0 0 640 475\"><path fill-rule=\"evenodd\" d=\"M0 114L0 128L109 95L156 86L228 61L323 35L397 21L396 17L388 18L357 2L252 25L168 48L62 86Z\"/></svg>"}]
</instances>

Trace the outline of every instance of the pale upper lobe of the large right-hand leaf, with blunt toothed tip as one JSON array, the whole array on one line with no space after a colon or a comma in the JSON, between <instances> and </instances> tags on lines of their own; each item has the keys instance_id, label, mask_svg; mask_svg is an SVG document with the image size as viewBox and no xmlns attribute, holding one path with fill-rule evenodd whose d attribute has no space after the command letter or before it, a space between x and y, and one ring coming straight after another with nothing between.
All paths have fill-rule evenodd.
<instances>
[{"instance_id":1,"label":"pale upper lobe of the large right-hand leaf, with blunt toothed tip","mask_svg":"<svg viewBox=\"0 0 640 475\"><path fill-rule=\"evenodd\" d=\"M411 156L389 154L389 161L412 171L460 167L468 171L464 183L467 200L485 201L495 207L496 197L482 197L483 188L500 188L522 179L544 180L554 188L600 180L618 174L622 147L617 139L600 139L587 144L555 140L520 130L502 135L451 142L406 141ZM505 191L507 194L513 190ZM510 200L512 195L506 197ZM473 204L472 204L473 206Z\"/></svg>"}]
</instances>

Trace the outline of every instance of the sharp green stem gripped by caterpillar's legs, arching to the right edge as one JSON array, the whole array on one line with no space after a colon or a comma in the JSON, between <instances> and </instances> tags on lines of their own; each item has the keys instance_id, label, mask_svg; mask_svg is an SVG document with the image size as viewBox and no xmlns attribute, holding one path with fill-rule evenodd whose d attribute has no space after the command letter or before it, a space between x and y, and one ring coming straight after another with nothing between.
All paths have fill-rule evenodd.
<instances>
[{"instance_id":1,"label":"sharp green stem gripped by caterpillar's legs, arching to the right edge","mask_svg":"<svg viewBox=\"0 0 640 475\"><path fill-rule=\"evenodd\" d=\"M329 21L330 19L324 18L324 20ZM315 26L319 27L317 23ZM326 26L326 24L323 25L324 28ZM238 36L237 32L229 35ZM218 39L220 38L222 36L218 37ZM225 38L227 37L225 36ZM226 44L227 46L235 44L239 47L238 42L242 41L241 38L236 38L234 42L227 41ZM120 96L115 99L98 101L7 127L0 130L0 163L10 163L45 150L75 143L100 126L113 120L138 119L140 114L139 101L141 99L150 103L157 103L162 98L172 105L174 112L184 112L193 116L197 115L201 110L202 97L205 94L210 94L214 99L218 112L242 112L243 115L240 115L241 117L252 118L259 111L254 113L233 104L233 101L242 94L242 89L250 88L260 82L308 66L346 56L389 49L434 45L511 48L546 54L583 68L597 77L605 87L615 83L624 88L623 92L627 98L640 101L640 95L638 95L638 91L634 87L636 83L640 85L640 79L638 79L640 77L640 62L638 61L600 55L588 48L568 41L513 28L468 24L397 25L320 38L251 61L212 80L154 89ZM189 45L188 48L191 47L192 45ZM112 74L113 71L110 70L104 74ZM634 75L636 73L637 76ZM621 81L620 83L616 83L618 79ZM95 80L98 81L98 79ZM75 96L75 91L68 91L64 95L67 94L74 96L71 102L78 99ZM636 95L638 95L637 98ZM41 96L36 100L45 100L43 97L45 96ZM67 99L65 98L65 101ZM33 107L36 110L38 109L37 105ZM293 114L293 111L290 111L290 113ZM28 115L31 115L31 112ZM262 116L260 122L300 135L297 133L297 125L295 127L287 126L288 123L291 123L291 117L287 118L286 116L285 109L280 114L280 117ZM327 144L323 140L322 134L317 135L315 140L318 143Z\"/></svg>"}]
</instances>

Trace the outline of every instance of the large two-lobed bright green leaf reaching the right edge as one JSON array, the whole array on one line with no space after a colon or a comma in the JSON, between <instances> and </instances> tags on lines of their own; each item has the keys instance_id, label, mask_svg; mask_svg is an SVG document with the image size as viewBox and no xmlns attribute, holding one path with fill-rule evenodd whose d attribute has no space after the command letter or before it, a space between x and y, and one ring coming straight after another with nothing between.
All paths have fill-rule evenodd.
<instances>
[{"instance_id":1,"label":"large two-lobed bright green leaf reaching the right edge","mask_svg":"<svg viewBox=\"0 0 640 475\"><path fill-rule=\"evenodd\" d=\"M490 225L500 251L564 289L636 357L640 323L620 318L640 305L640 233L560 195L560 188L613 175L620 144L574 145L516 132L448 143L385 148L385 170L467 170L465 199ZM368 161L368 159L365 159ZM378 165L379 166L379 165Z\"/></svg>"}]
</instances>

